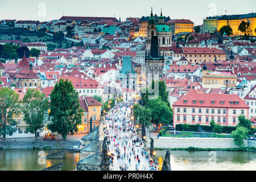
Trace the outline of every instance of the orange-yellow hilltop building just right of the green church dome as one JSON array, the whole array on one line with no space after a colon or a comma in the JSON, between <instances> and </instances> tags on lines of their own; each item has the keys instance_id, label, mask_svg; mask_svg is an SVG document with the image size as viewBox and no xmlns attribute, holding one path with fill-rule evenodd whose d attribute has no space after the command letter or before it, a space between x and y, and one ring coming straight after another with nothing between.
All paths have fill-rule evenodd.
<instances>
[{"instance_id":1,"label":"orange-yellow hilltop building just right of the green church dome","mask_svg":"<svg viewBox=\"0 0 256 182\"><path fill-rule=\"evenodd\" d=\"M189 19L169 20L166 24L171 28L172 34L194 32L194 23Z\"/></svg>"}]
</instances>

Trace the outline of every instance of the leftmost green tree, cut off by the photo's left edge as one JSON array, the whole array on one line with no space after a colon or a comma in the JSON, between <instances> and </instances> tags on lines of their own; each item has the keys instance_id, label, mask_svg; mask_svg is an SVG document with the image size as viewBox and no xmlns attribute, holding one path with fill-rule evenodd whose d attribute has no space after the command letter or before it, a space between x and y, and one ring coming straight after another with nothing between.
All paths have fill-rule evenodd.
<instances>
[{"instance_id":1,"label":"leftmost green tree, cut off by the photo's left edge","mask_svg":"<svg viewBox=\"0 0 256 182\"><path fill-rule=\"evenodd\" d=\"M19 113L19 96L7 87L0 90L0 135L6 138L6 135L13 135L16 128L13 114Z\"/></svg>"}]
</instances>

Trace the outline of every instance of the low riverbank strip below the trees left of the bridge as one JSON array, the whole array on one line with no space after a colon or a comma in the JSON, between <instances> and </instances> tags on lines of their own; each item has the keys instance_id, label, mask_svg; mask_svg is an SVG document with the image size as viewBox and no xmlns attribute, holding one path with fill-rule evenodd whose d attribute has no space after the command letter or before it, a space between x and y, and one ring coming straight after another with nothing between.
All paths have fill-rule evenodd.
<instances>
[{"instance_id":1,"label":"low riverbank strip below the trees left of the bridge","mask_svg":"<svg viewBox=\"0 0 256 182\"><path fill-rule=\"evenodd\" d=\"M0 149L68 149L73 146L80 146L79 141L13 141L3 140L0 141Z\"/></svg>"}]
</instances>

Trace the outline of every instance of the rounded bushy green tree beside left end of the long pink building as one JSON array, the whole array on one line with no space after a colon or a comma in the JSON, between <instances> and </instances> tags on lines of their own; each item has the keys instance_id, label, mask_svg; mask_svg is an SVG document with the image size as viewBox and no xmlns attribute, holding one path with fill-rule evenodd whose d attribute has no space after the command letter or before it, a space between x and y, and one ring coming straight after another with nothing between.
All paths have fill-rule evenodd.
<instances>
[{"instance_id":1,"label":"rounded bushy green tree beside left end of the long pink building","mask_svg":"<svg viewBox=\"0 0 256 182\"><path fill-rule=\"evenodd\" d=\"M151 110L152 123L156 125L172 123L172 109L168 107L166 102L163 102L160 97L156 100L148 100L147 109Z\"/></svg>"}]
</instances>

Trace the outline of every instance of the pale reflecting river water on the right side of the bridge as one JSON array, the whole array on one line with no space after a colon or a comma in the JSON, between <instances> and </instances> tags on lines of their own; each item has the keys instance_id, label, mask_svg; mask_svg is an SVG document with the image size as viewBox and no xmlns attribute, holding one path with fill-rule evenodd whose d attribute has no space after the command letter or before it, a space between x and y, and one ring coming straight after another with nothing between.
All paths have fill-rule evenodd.
<instances>
[{"instance_id":1,"label":"pale reflecting river water on the right side of the bridge","mask_svg":"<svg viewBox=\"0 0 256 182\"><path fill-rule=\"evenodd\" d=\"M256 170L256 152L242 151L170 151L174 171ZM156 160L166 151L156 151ZM161 159L160 159L161 160Z\"/></svg>"}]
</instances>

